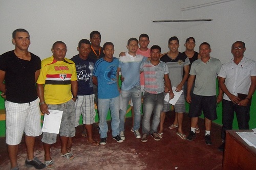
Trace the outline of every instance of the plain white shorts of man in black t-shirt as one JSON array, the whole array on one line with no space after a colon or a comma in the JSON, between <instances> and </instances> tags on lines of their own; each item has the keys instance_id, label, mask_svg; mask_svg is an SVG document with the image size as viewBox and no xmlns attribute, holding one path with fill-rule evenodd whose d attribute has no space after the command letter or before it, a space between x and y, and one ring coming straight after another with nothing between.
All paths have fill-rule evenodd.
<instances>
[{"instance_id":1,"label":"plain white shorts of man in black t-shirt","mask_svg":"<svg viewBox=\"0 0 256 170\"><path fill-rule=\"evenodd\" d=\"M27 136L39 136L42 134L39 98L30 103L6 101L5 109L7 144L19 144L22 141L23 132Z\"/></svg>"}]
</instances>

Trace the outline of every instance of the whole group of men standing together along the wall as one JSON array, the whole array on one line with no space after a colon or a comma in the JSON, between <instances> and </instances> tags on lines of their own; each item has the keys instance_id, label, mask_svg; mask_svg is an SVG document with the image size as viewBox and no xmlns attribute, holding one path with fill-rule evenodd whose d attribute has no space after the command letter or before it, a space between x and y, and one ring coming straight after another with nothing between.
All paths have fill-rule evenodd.
<instances>
[{"instance_id":1,"label":"whole group of men standing together along the wall","mask_svg":"<svg viewBox=\"0 0 256 170\"><path fill-rule=\"evenodd\" d=\"M176 116L174 123L169 127L178 128L177 135L182 139L193 140L196 133L200 132L197 122L203 111L205 142L211 144L211 122L217 119L216 103L220 103L222 98L223 143L225 130L232 129L234 111L237 114L239 129L249 129L250 102L256 85L256 63L244 57L246 48L242 41L232 44L233 58L229 63L221 65L220 60L210 57L209 43L203 42L199 46L199 54L195 52L193 37L186 40L186 51L183 53L178 51L179 39L169 38L169 52L161 56L161 47L153 45L149 49L149 37L142 34L139 40L130 38L127 41L128 52L120 54L118 60L113 57L114 44L106 42L100 47L101 35L98 31L93 31L90 41L79 41L78 55L72 59L66 58L66 44L56 41L51 49L53 55L42 61L28 51L30 36L26 30L15 30L12 38L15 50L0 57L0 91L3 92L3 98L6 98L6 143L11 169L18 169L18 144L22 140L23 132L27 147L25 164L37 169L54 168L50 149L56 142L57 134L44 132L42 135L44 163L33 154L35 136L42 133L40 111L44 114L51 114L51 109L63 111L59 130L60 156L68 160L75 158L71 152L72 137L75 135L75 127L79 125L81 114L86 129L82 133L83 136L88 136L87 141L95 146L104 145L108 136L106 116L110 109L112 137L117 142L123 142L124 120L130 100L134 112L131 131L135 137L141 138L142 142L147 141L148 135L160 140L163 137L165 113L170 109L170 104L164 101L164 96L174 98L172 85L177 92L185 91L174 106ZM119 74L122 75L121 88L118 85ZM217 75L220 89L216 99ZM142 95L141 137L139 129ZM188 136L182 131L185 99L190 103L191 130ZM96 115L95 102L99 114L100 142L92 136L92 124L95 123ZM224 144L220 150L223 148Z\"/></svg>"}]
</instances>

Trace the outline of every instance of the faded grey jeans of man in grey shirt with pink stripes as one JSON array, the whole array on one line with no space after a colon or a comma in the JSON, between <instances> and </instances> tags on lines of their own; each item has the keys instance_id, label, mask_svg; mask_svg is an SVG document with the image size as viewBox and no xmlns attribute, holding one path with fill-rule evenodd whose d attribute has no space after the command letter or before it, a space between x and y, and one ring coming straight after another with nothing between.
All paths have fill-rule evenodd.
<instances>
[{"instance_id":1,"label":"faded grey jeans of man in grey shirt with pink stripes","mask_svg":"<svg viewBox=\"0 0 256 170\"><path fill-rule=\"evenodd\" d=\"M164 94L151 94L149 92L143 95L143 118L142 118L142 133L152 134L157 132L157 127L160 123L160 114L163 108ZM150 118L153 112L152 124L150 126Z\"/></svg>"}]
</instances>

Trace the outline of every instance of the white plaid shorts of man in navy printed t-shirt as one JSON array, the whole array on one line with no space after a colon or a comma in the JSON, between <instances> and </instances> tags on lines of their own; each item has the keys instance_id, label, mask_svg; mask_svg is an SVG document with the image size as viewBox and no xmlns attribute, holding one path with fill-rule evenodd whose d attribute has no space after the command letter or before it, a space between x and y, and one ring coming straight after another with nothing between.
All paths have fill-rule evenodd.
<instances>
[{"instance_id":1,"label":"white plaid shorts of man in navy printed t-shirt","mask_svg":"<svg viewBox=\"0 0 256 170\"><path fill-rule=\"evenodd\" d=\"M94 94L91 95L77 95L75 104L76 122L75 126L79 125L80 115L82 114L82 122L84 125L92 125L95 123L95 109L94 109Z\"/></svg>"}]
</instances>

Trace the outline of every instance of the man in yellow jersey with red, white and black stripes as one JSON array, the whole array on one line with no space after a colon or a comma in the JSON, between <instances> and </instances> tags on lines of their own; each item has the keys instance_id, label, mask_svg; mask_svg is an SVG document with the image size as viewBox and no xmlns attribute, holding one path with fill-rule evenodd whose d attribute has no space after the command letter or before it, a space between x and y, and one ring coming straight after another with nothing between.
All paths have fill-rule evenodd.
<instances>
[{"instance_id":1,"label":"man in yellow jersey with red, white and black stripes","mask_svg":"<svg viewBox=\"0 0 256 170\"><path fill-rule=\"evenodd\" d=\"M52 45L52 53L51 57L41 62L40 75L37 80L39 106L44 114L51 114L50 109L63 111L59 129L60 156L73 160L75 156L70 151L72 137L75 136L76 67L73 61L65 58L67 46L64 42L56 41ZM56 142L56 137L55 133L44 132L42 135L47 168L54 167L50 149L51 145Z\"/></svg>"}]
</instances>

